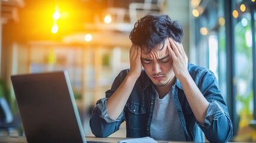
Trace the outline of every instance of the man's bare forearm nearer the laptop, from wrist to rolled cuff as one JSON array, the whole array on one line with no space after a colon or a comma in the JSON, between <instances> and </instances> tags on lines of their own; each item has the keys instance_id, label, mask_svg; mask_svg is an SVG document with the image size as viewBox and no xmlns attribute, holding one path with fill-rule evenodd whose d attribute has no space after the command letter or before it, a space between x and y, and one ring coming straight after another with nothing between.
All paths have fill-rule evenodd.
<instances>
[{"instance_id":1,"label":"man's bare forearm nearer the laptop, from wrist to rolled cuff","mask_svg":"<svg viewBox=\"0 0 256 143\"><path fill-rule=\"evenodd\" d=\"M117 119L123 111L124 105L132 92L133 86L135 85L137 78L134 78L127 74L119 88L112 94L111 97L106 101L108 108L108 115L112 119Z\"/></svg>"}]
</instances>

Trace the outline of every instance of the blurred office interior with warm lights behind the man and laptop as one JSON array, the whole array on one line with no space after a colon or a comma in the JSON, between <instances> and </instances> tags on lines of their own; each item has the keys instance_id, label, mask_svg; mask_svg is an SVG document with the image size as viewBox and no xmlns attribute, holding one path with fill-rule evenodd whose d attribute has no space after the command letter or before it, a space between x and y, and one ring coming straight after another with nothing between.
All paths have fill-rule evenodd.
<instances>
[{"instance_id":1,"label":"blurred office interior with warm lights behind the man and laptop","mask_svg":"<svg viewBox=\"0 0 256 143\"><path fill-rule=\"evenodd\" d=\"M188 62L212 70L236 142L256 142L255 0L0 0L0 135L23 136L10 76L66 70L86 136L96 101L129 68L130 31L148 13L184 29ZM1 117L2 116L2 117ZM126 137L125 122L113 137Z\"/></svg>"}]
</instances>

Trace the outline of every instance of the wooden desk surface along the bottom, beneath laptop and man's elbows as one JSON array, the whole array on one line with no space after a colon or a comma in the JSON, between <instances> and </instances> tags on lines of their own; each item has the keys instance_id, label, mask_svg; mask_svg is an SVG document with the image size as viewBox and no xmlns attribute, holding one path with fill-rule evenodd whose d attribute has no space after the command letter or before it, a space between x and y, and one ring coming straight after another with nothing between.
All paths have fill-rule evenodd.
<instances>
[{"instance_id":1,"label":"wooden desk surface along the bottom, beneath laptop and man's elbows","mask_svg":"<svg viewBox=\"0 0 256 143\"><path fill-rule=\"evenodd\" d=\"M123 139L127 138L96 138L96 137L91 137L91 136L86 136L86 141L104 141L104 142L118 142ZM5 142L5 143L25 143L26 137L25 136L0 136L0 142ZM167 141L157 141L157 142L167 142ZM169 141L170 142L170 141ZM170 143L178 143L171 141ZM180 143L180 142L179 142Z\"/></svg>"}]
</instances>

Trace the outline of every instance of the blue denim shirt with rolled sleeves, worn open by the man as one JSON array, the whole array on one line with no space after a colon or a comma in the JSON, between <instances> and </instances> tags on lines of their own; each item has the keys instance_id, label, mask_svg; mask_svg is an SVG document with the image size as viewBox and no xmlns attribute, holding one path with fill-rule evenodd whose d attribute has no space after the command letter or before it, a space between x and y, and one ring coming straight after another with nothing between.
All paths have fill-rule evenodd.
<instances>
[{"instance_id":1,"label":"blue denim shirt with rolled sleeves, worn open by the man","mask_svg":"<svg viewBox=\"0 0 256 143\"><path fill-rule=\"evenodd\" d=\"M176 79L171 90L186 140L204 142L206 137L210 142L229 141L233 135L233 126L214 73L193 64L188 64L188 71L203 96L209 102L209 107L206 111L205 123L197 122L185 97L181 83ZM119 129L124 120L126 121L127 138L150 136L150 125L157 91L154 83L144 70L142 70L141 76L136 81L120 116L115 120L108 115L106 100L114 94L128 72L129 69L121 71L115 78L111 89L106 91L106 98L102 98L96 103L97 106L90 119L92 133L96 137L111 135Z\"/></svg>"}]
</instances>

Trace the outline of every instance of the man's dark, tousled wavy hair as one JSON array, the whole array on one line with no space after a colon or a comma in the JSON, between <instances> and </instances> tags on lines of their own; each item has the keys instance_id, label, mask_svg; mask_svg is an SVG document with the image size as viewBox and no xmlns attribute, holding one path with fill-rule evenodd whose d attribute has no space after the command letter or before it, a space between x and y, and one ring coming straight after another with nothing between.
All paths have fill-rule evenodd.
<instances>
[{"instance_id":1,"label":"man's dark, tousled wavy hair","mask_svg":"<svg viewBox=\"0 0 256 143\"><path fill-rule=\"evenodd\" d=\"M164 14L148 14L135 23L130 32L130 40L135 45L147 47L150 53L151 49L160 43L163 43L164 47L164 41L168 37L181 43L183 35L181 24L178 21L171 20L168 15Z\"/></svg>"}]
</instances>

